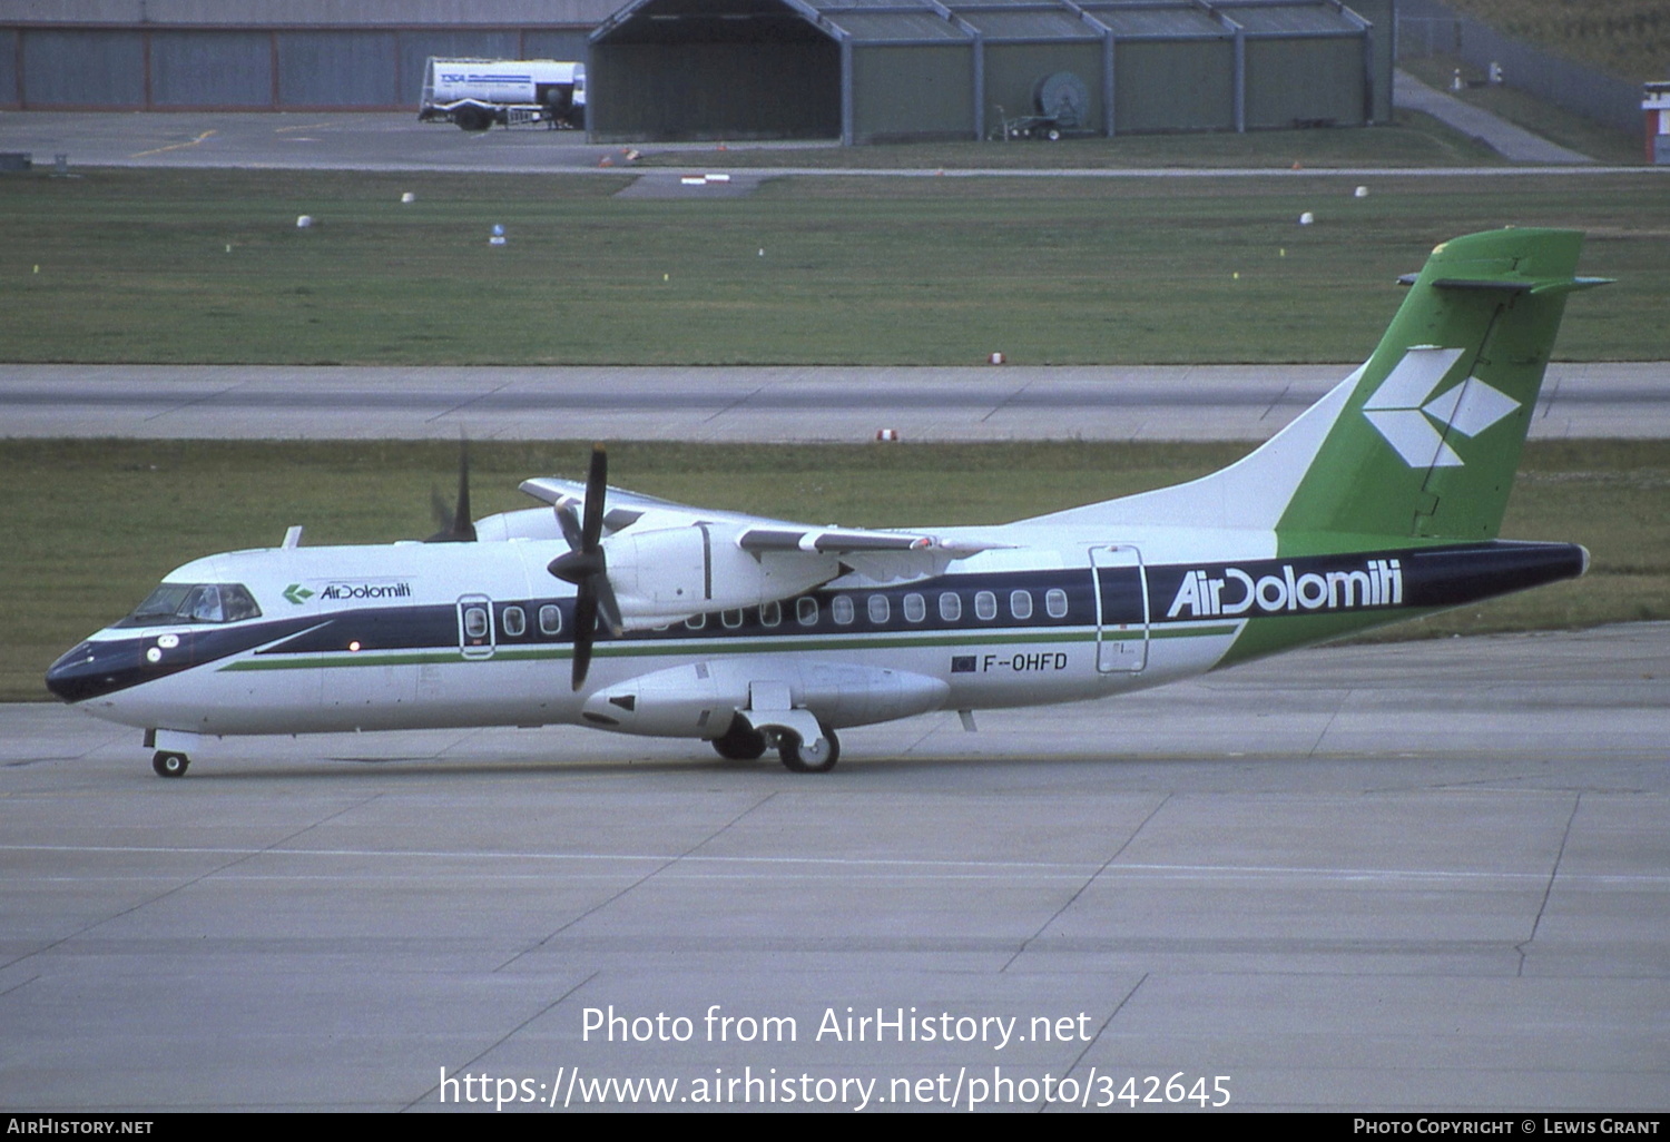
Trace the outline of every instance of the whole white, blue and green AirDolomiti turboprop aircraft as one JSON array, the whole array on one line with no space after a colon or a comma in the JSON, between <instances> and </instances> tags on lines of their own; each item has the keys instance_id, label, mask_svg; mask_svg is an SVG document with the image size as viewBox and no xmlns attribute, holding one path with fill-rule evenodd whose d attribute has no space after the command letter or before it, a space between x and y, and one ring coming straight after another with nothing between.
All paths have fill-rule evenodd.
<instances>
[{"instance_id":1,"label":"whole white, blue and green AirDolomiti turboprop aircraft","mask_svg":"<svg viewBox=\"0 0 1670 1142\"><path fill-rule=\"evenodd\" d=\"M1242 461L990 528L862 531L529 479L546 508L387 546L209 556L60 658L47 685L204 736L573 723L777 750L845 726L1075 701L1575 578L1496 538L1581 235L1433 250L1368 362ZM605 499L608 503L605 503ZM564 670L566 668L566 670Z\"/></svg>"}]
</instances>

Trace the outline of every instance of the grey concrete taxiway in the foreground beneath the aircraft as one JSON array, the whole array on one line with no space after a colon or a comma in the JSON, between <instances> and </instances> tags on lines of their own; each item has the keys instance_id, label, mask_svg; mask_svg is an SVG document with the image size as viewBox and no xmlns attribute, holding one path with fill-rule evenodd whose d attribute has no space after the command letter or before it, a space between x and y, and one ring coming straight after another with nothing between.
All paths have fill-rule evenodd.
<instances>
[{"instance_id":1,"label":"grey concrete taxiway in the foreground beneath the aircraft","mask_svg":"<svg viewBox=\"0 0 1670 1142\"><path fill-rule=\"evenodd\" d=\"M0 1105L439 1110L471 1075L693 1109L775 1075L1015 1109L1050 1075L1127 1110L1126 1079L1164 1109L1224 1075L1234 1109L1662 1110L1667 741L1670 624L917 718L827 776L483 730L227 741L167 781L135 731L7 706ZM1025 1037L817 1033L877 1010Z\"/></svg>"}]
</instances>

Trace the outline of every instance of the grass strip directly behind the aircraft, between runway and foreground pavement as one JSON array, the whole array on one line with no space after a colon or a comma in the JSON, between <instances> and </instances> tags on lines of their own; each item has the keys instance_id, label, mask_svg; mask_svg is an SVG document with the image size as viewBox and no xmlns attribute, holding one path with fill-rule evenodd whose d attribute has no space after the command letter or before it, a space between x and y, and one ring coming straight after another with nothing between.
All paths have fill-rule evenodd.
<instances>
[{"instance_id":1,"label":"grass strip directly behind the aircraft, between runway and foreground pavement","mask_svg":"<svg viewBox=\"0 0 1670 1142\"><path fill-rule=\"evenodd\" d=\"M979 524L1177 483L1231 444L620 444L613 479L686 503L852 526ZM471 446L478 516L534 501L533 474L581 476L588 446ZM127 613L169 569L215 551L381 543L434 531L456 449L433 442L5 441L0 700L45 700L52 659ZM276 491L279 489L279 491ZM1583 543L1593 569L1381 638L1670 618L1670 442L1531 442L1505 536Z\"/></svg>"}]
</instances>

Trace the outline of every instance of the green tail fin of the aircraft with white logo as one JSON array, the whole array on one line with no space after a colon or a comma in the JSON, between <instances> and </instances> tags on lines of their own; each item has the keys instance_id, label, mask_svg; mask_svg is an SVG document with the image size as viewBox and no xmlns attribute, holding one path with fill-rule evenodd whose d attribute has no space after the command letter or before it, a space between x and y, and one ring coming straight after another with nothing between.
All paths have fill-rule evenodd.
<instances>
[{"instance_id":1,"label":"green tail fin of the aircraft with white logo","mask_svg":"<svg viewBox=\"0 0 1670 1142\"><path fill-rule=\"evenodd\" d=\"M1284 551L1493 539L1536 409L1575 230L1493 230L1433 250L1276 524ZM1349 536L1349 539L1346 539Z\"/></svg>"}]
</instances>

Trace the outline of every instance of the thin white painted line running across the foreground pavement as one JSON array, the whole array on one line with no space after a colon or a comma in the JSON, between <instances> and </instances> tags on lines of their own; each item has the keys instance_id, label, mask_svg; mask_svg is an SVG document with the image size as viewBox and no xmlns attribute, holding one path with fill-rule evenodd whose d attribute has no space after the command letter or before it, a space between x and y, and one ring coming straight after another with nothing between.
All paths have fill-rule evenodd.
<instances>
[{"instance_id":1,"label":"thin white painted line running across the foreground pavement","mask_svg":"<svg viewBox=\"0 0 1670 1142\"><path fill-rule=\"evenodd\" d=\"M387 860L541 860L541 862L623 862L623 863L645 863L653 862L658 865L670 865L663 875L678 875L685 878L723 878L716 873L690 873L680 872L681 865L706 863L706 865L765 865L768 872L782 870L785 865L800 867L825 867L837 870L850 868L900 868L900 870L925 870L925 868L944 868L949 872L955 870L989 870L990 873L1012 873L1012 872L1034 872L1040 875L1060 875L1060 877L1082 877L1087 873L1096 873L1101 870L1099 877L1111 877L1119 873L1146 873L1159 877L1247 877L1247 878L1279 878L1279 877L1311 877L1321 880L1346 880L1346 882L1420 882L1420 880L1440 880L1440 882L1493 882L1493 880L1523 880L1526 883L1546 883L1548 872L1458 872L1443 868L1304 868L1298 865L1186 865L1186 863L1131 863L1131 865L1102 865L1101 862L1022 862L1022 860L915 860L905 856L681 856L678 853L531 853L531 851L498 851L498 853L481 853L481 851L443 851L443 850L372 850L372 848L217 848L217 846L165 846L165 848L147 848L142 845L0 845L0 851L37 851L37 853L122 853L122 855L159 855L159 856L331 856L331 858L349 858L349 860L366 860L366 858L387 858ZM381 873L379 873L381 875ZM972 877L974 872L964 872L962 875ZM287 877L272 877L271 873L252 873L250 878L272 878L286 880ZM940 877L937 877L940 878ZM38 878L45 880L45 878ZM75 878L63 878L75 880ZM85 880L95 880L95 877L87 877ZM1588 885L1625 885L1625 887L1658 887L1670 885L1670 873L1667 875L1607 875L1607 873L1580 873L1580 875L1563 875L1560 883L1588 883Z\"/></svg>"}]
</instances>

